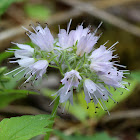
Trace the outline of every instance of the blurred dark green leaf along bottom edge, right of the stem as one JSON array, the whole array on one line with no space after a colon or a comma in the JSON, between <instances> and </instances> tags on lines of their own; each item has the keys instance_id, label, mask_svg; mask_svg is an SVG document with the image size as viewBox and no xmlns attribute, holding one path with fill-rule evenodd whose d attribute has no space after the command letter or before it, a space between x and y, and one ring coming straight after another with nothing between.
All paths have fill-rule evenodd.
<instances>
[{"instance_id":1,"label":"blurred dark green leaf along bottom edge, right of the stem","mask_svg":"<svg viewBox=\"0 0 140 140\"><path fill-rule=\"evenodd\" d=\"M63 140L116 140L116 138L112 138L108 136L107 133L104 133L104 132L96 133L92 136L82 136L82 135L66 136L62 132L55 130L54 134Z\"/></svg>"}]
</instances>

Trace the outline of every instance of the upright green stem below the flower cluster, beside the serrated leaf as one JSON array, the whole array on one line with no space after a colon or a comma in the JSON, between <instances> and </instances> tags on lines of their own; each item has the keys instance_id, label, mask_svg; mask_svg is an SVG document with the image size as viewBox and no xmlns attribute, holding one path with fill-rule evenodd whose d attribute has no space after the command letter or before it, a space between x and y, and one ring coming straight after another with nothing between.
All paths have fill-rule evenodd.
<instances>
[{"instance_id":1,"label":"upright green stem below the flower cluster, beside the serrated leaf","mask_svg":"<svg viewBox=\"0 0 140 140\"><path fill-rule=\"evenodd\" d=\"M51 116L53 116L52 117L53 121L54 121L56 113L57 113L58 105L59 105L59 97L55 100L55 103L54 103L54 106L53 106L53 110L52 110L52 113L51 113ZM53 127L53 124L48 126L48 128L50 128L50 129L52 129L52 127ZM45 137L44 137L44 140L49 140L50 135L51 135L51 132L47 132Z\"/></svg>"}]
</instances>

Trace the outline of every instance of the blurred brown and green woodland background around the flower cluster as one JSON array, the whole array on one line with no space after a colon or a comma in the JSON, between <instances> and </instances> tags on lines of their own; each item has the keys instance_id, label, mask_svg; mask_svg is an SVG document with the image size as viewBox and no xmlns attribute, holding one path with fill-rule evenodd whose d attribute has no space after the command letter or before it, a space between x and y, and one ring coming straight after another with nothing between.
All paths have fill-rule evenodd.
<instances>
[{"instance_id":1,"label":"blurred brown and green woodland background around the flower cluster","mask_svg":"<svg viewBox=\"0 0 140 140\"><path fill-rule=\"evenodd\" d=\"M43 27L51 29L57 37L58 25L66 28L72 19L71 29L80 23L91 25L93 30L103 21L98 34L103 32L97 47L107 40L108 46L116 41L115 53L120 56L120 64L126 65L131 71L126 81L130 83L129 91L110 89L113 101L106 103L111 115L108 116L101 108L95 109L93 104L84 101L83 93L75 93L74 106L66 107L62 114L62 106L58 109L55 120L55 131L50 140L138 140L140 139L140 0L0 0L0 120L4 118L50 114L53 99L51 94L59 87L60 73L48 69L47 79L42 85L33 87L31 83L19 86L24 79L18 81L12 74L3 74L18 65L9 64L13 54L5 52L15 47L12 42L30 43L25 35L24 26L40 22ZM123 94L122 94L123 92ZM43 136L33 138L41 140Z\"/></svg>"}]
</instances>

